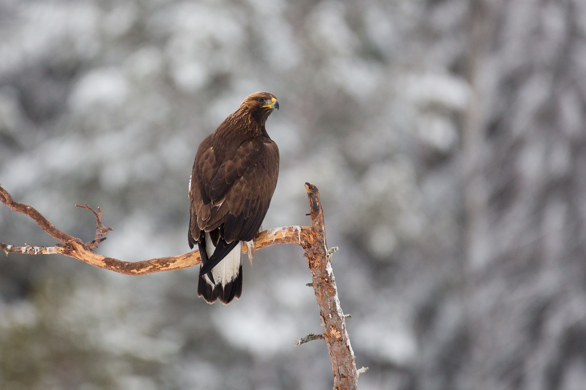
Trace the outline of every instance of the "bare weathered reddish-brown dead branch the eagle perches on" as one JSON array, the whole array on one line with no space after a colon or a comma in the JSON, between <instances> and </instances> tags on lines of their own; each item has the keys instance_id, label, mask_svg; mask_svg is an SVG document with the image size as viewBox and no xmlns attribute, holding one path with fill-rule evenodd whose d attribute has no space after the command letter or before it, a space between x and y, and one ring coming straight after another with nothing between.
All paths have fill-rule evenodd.
<instances>
[{"instance_id":1,"label":"bare weathered reddish-brown dead branch the eagle perches on","mask_svg":"<svg viewBox=\"0 0 586 390\"><path fill-rule=\"evenodd\" d=\"M355 356L350 346L350 339L346 332L347 316L342 312L338 299L336 281L332 270L332 254L337 247L328 248L323 222L323 210L319 201L319 192L315 185L306 183L305 189L311 208L312 226L285 226L276 229L264 230L254 238L254 250L263 249L276 244L298 244L305 251L309 270L312 275L315 298L319 305L323 334L310 335L312 340L325 339L332 361L334 374L334 390L356 389L357 379L364 369L356 370ZM104 226L101 220L102 212L97 212L88 205L79 206L90 210L96 218L96 235L94 240L84 243L83 240L70 236L57 229L38 210L24 203L16 202L12 196L0 185L0 201L6 206L32 218L47 234L59 241L53 247L13 246L0 243L0 250L8 253L21 254L62 254L77 258L95 267L118 272L126 275L145 275L152 272L180 270L192 267L201 262L199 251L194 250L178 256L151 258L142 261L123 261L112 257L101 256L92 249L105 240L111 227ZM243 246L243 253L248 247ZM307 336L309 337L309 336ZM306 339L305 337L304 339ZM304 340L302 339L302 340ZM299 340L299 341L302 341ZM303 341L307 342L309 341ZM302 344L302 343L300 343ZM367 369L366 369L367 370Z\"/></svg>"}]
</instances>

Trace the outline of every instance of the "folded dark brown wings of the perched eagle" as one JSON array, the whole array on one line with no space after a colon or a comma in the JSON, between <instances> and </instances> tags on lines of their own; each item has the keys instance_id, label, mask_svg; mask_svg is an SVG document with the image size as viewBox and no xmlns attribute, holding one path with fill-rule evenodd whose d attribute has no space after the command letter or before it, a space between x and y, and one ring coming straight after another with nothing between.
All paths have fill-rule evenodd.
<instances>
[{"instance_id":1,"label":"folded dark brown wings of the perched eagle","mask_svg":"<svg viewBox=\"0 0 586 390\"><path fill-rule=\"evenodd\" d=\"M229 158L220 158L216 156L220 148L212 144L210 137L200 144L193 164L191 232L197 241L201 232L224 224L222 238L228 243L250 241L277 185L277 145L267 137L257 137L242 142ZM217 161L223 162L218 165Z\"/></svg>"}]
</instances>

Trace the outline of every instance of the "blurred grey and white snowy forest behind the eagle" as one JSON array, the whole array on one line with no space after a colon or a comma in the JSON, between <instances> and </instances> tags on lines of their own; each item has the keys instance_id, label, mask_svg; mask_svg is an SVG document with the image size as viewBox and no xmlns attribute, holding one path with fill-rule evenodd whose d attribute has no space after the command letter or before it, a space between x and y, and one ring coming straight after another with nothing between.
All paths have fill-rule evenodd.
<instances>
[{"instance_id":1,"label":"blurred grey and white snowy forest behind the eagle","mask_svg":"<svg viewBox=\"0 0 586 390\"><path fill-rule=\"evenodd\" d=\"M206 134L277 95L264 228L322 195L360 388L586 383L584 0L0 0L0 183L122 260L189 250ZM0 241L52 245L0 207ZM229 306L196 268L127 277L2 255L0 388L325 389L302 250L244 258Z\"/></svg>"}]
</instances>

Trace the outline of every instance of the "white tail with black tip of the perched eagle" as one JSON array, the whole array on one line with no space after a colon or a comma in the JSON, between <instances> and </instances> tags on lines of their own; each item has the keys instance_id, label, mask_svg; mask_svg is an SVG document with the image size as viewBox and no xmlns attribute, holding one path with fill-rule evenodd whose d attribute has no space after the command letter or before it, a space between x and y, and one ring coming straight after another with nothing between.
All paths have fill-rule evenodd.
<instances>
[{"instance_id":1,"label":"white tail with black tip of the perched eagle","mask_svg":"<svg viewBox=\"0 0 586 390\"><path fill-rule=\"evenodd\" d=\"M209 233L205 233L205 240L202 241L204 242L199 243L200 252L205 251L205 255L202 256L197 295L203 296L207 303L220 299L220 302L227 305L242 294L242 243L234 241L226 244L220 239L214 246ZM224 254L228 247L228 253L217 261L219 256L216 252Z\"/></svg>"}]
</instances>

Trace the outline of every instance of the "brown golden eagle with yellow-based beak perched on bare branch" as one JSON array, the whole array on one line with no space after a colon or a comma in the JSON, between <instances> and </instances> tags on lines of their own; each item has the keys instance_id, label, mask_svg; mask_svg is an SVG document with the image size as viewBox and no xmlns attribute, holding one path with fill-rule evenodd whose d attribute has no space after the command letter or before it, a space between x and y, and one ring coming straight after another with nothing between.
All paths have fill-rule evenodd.
<instances>
[{"instance_id":1,"label":"brown golden eagle with yellow-based beak perched on bare branch","mask_svg":"<svg viewBox=\"0 0 586 390\"><path fill-rule=\"evenodd\" d=\"M248 96L197 149L188 240L199 247L197 295L208 303L242 294L242 243L258 233L277 186L279 149L265 129L275 108L269 92Z\"/></svg>"}]
</instances>

